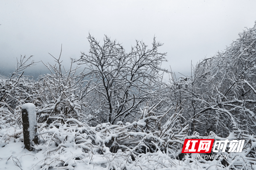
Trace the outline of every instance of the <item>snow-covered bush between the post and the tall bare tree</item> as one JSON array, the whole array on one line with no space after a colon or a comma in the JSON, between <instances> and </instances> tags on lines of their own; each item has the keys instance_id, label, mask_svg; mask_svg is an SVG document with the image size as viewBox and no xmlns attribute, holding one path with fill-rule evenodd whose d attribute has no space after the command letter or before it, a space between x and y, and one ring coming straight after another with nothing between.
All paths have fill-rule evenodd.
<instances>
[{"instance_id":1,"label":"snow-covered bush between the post and the tall bare tree","mask_svg":"<svg viewBox=\"0 0 256 170\"><path fill-rule=\"evenodd\" d=\"M53 56L52 56L53 57ZM55 119L62 122L65 119L74 118L79 121L87 121L84 108L87 102L84 96L90 91L90 79L85 78L84 72L76 73L78 67L69 70L61 65L61 55L55 58L55 65L45 64L51 74L46 74L36 82L40 92L36 96L35 104L38 106L38 122L48 124Z\"/></svg>"}]
</instances>

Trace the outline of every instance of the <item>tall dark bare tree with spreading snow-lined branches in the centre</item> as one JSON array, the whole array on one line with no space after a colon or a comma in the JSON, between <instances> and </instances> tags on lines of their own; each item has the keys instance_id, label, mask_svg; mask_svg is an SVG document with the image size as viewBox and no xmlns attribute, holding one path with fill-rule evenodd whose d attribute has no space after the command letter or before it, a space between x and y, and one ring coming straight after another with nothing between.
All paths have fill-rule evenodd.
<instances>
[{"instance_id":1,"label":"tall dark bare tree with spreading snow-lined branches in the centre","mask_svg":"<svg viewBox=\"0 0 256 170\"><path fill-rule=\"evenodd\" d=\"M89 54L82 53L79 64L85 64L86 75L93 79L93 90L88 99L94 109L93 119L114 122L136 117L139 106L145 101L161 98L163 73L161 63L166 61L166 53L157 48L161 43L155 38L152 48L140 41L125 53L122 45L105 36L103 44L91 35ZM100 116L101 115L101 116ZM105 116L104 116L105 115Z\"/></svg>"}]
</instances>

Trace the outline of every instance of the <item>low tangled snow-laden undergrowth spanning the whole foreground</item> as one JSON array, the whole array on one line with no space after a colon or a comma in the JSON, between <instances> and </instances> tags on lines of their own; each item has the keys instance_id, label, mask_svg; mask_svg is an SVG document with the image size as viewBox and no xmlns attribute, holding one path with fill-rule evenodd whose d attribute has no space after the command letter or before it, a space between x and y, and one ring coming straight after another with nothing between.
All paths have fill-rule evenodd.
<instances>
[{"instance_id":1,"label":"low tangled snow-laden undergrowth spanning the whole foreground","mask_svg":"<svg viewBox=\"0 0 256 170\"><path fill-rule=\"evenodd\" d=\"M1 129L0 150L1 153L8 151L0 156L0 165L34 170L48 170L52 167L67 170L256 168L255 136L230 133L225 139L246 141L242 153L212 152L228 154L228 157L196 159L193 154L181 154L184 139L225 139L213 132L209 136L200 136L198 133L188 136L188 126L181 127L180 121L177 121L182 116L180 113L173 114L166 123L161 123L163 116L153 116L154 108L146 106L142 109L140 120L133 123L103 123L96 127L76 119L67 119L64 124L57 120L50 125L39 123L39 144L29 154L22 149L23 133L19 127Z\"/></svg>"}]
</instances>

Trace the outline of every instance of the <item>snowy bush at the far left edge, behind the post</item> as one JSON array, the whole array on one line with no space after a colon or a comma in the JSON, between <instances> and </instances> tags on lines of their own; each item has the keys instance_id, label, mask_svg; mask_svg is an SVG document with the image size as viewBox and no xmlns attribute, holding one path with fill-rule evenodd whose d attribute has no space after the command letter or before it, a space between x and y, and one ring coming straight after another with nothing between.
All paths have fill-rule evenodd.
<instances>
[{"instance_id":1,"label":"snowy bush at the far left edge, behind the post","mask_svg":"<svg viewBox=\"0 0 256 170\"><path fill-rule=\"evenodd\" d=\"M32 56L20 56L17 67L10 77L0 76L0 128L22 127L21 106L33 102L38 88L35 81L23 76L24 69L35 64Z\"/></svg>"}]
</instances>

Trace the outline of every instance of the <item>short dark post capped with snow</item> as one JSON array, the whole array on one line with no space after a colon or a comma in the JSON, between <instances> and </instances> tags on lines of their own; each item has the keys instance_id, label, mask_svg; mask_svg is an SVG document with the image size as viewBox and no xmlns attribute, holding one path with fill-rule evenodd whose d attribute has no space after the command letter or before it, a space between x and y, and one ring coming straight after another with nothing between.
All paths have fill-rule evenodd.
<instances>
[{"instance_id":1,"label":"short dark post capped with snow","mask_svg":"<svg viewBox=\"0 0 256 170\"><path fill-rule=\"evenodd\" d=\"M38 136L36 136L37 121L33 103L26 103L22 106L22 122L25 148L32 151L33 142L38 144Z\"/></svg>"}]
</instances>

